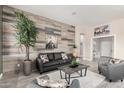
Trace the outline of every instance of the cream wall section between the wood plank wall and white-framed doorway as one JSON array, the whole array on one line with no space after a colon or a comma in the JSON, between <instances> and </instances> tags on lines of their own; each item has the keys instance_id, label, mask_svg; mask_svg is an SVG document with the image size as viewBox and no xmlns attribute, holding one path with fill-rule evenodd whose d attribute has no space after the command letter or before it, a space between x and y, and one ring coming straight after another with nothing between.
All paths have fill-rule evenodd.
<instances>
[{"instance_id":1,"label":"cream wall section between the wood plank wall and white-framed doorway","mask_svg":"<svg viewBox=\"0 0 124 93\"><path fill-rule=\"evenodd\" d=\"M92 33L90 33L90 29L87 26L76 26L75 42L78 49L78 55L80 55L80 33L84 33L83 59L91 60L89 55L91 55L91 45L90 45L91 38L90 37Z\"/></svg>"}]
</instances>

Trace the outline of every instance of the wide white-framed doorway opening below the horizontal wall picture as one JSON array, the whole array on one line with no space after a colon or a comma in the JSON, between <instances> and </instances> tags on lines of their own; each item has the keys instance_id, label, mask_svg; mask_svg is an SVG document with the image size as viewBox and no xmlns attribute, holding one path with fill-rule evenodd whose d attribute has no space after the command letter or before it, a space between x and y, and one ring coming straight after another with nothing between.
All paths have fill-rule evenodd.
<instances>
[{"instance_id":1,"label":"wide white-framed doorway opening below the horizontal wall picture","mask_svg":"<svg viewBox=\"0 0 124 93\"><path fill-rule=\"evenodd\" d=\"M114 36L93 38L93 60L98 60L101 56L113 57Z\"/></svg>"}]
</instances>

